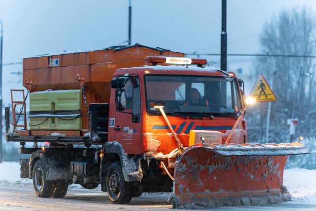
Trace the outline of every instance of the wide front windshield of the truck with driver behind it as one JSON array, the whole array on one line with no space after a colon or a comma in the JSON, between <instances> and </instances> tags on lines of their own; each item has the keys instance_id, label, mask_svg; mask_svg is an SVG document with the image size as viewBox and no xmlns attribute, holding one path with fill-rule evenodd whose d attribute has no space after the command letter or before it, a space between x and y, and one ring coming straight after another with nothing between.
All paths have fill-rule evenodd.
<instances>
[{"instance_id":1,"label":"wide front windshield of the truck with driver behind it","mask_svg":"<svg viewBox=\"0 0 316 211\"><path fill-rule=\"evenodd\" d=\"M230 77L146 75L147 112L159 109L151 102L163 101L164 111L174 113L225 114L241 109L236 80Z\"/></svg>"}]
</instances>

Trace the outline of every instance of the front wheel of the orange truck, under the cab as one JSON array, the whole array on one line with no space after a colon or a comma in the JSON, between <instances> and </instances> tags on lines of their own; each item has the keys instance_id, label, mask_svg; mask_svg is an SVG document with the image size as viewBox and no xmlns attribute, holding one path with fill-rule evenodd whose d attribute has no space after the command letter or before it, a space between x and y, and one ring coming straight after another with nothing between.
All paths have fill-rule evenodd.
<instances>
[{"instance_id":1,"label":"front wheel of the orange truck, under the cab","mask_svg":"<svg viewBox=\"0 0 316 211\"><path fill-rule=\"evenodd\" d=\"M107 192L112 203L127 204L132 200L129 184L125 182L119 162L111 164L107 175Z\"/></svg>"}]
</instances>

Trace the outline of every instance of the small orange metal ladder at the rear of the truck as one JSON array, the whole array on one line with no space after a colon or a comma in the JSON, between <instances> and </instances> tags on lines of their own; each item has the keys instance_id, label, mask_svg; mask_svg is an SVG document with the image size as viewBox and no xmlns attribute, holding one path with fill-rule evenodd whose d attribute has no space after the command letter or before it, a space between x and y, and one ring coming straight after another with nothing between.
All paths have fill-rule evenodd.
<instances>
[{"instance_id":1,"label":"small orange metal ladder at the rear of the truck","mask_svg":"<svg viewBox=\"0 0 316 211\"><path fill-rule=\"evenodd\" d=\"M14 100L13 99L13 93L19 93L22 92L23 100ZM20 96L20 95L18 95ZM25 101L25 95L24 95L24 89L11 89L11 103L12 103L12 116L13 116L13 122L11 123L14 127L23 127L24 129L27 129L27 121L26 121L26 111L25 111L25 105L23 106ZM21 105L21 108L23 107L23 110L20 113L16 113L15 109L17 105ZM23 115L24 116L24 125L17 125L16 122L16 116Z\"/></svg>"}]
</instances>

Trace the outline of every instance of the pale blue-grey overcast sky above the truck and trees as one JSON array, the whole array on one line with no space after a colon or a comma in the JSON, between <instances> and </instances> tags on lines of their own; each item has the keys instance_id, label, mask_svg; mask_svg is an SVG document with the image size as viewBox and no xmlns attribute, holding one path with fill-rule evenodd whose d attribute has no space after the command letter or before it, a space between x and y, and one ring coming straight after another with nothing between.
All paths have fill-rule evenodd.
<instances>
[{"instance_id":1,"label":"pale blue-grey overcast sky above the truck and trees","mask_svg":"<svg viewBox=\"0 0 316 211\"><path fill-rule=\"evenodd\" d=\"M311 6L314 0L227 0L229 53L255 53L262 26L282 8ZM132 43L182 52L219 53L221 0L132 0ZM98 49L127 40L128 0L0 0L3 63L76 49ZM208 59L219 61L219 57ZM228 60L238 59L229 57ZM214 65L217 66L217 65ZM251 63L229 63L230 70ZM3 67L4 103L10 88L22 88L22 65Z\"/></svg>"}]
</instances>

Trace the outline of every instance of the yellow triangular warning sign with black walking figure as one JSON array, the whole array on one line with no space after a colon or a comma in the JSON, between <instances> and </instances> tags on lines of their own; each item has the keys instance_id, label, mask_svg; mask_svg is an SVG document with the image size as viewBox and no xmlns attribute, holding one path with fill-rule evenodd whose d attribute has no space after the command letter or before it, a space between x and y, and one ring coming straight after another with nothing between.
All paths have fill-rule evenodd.
<instances>
[{"instance_id":1,"label":"yellow triangular warning sign with black walking figure","mask_svg":"<svg viewBox=\"0 0 316 211\"><path fill-rule=\"evenodd\" d=\"M250 96L256 98L256 101L259 102L276 101L276 96L263 75L258 77L256 84L252 88Z\"/></svg>"}]
</instances>

